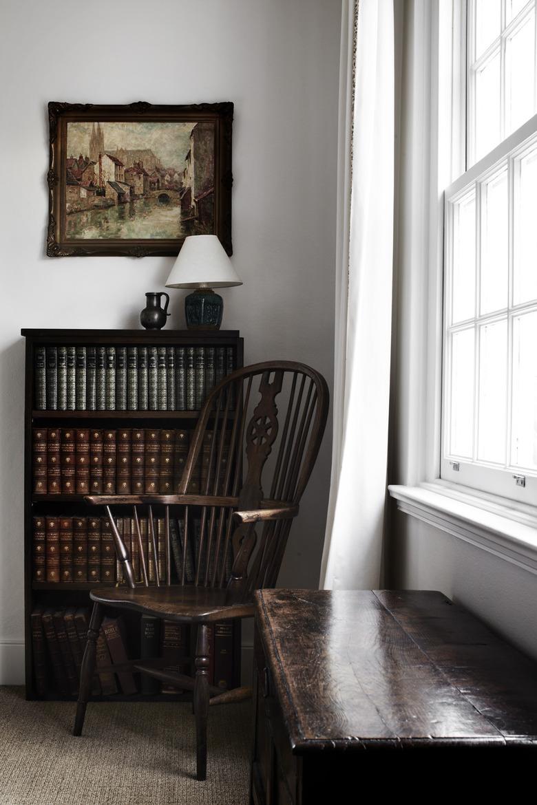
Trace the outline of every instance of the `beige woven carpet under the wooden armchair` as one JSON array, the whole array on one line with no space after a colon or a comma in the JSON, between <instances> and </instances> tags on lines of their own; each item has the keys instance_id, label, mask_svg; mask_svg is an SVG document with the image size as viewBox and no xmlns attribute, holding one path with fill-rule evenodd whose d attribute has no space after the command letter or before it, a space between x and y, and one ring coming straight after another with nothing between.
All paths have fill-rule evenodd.
<instances>
[{"instance_id":1,"label":"beige woven carpet under the wooden armchair","mask_svg":"<svg viewBox=\"0 0 537 805\"><path fill-rule=\"evenodd\" d=\"M207 780L194 778L190 704L27 702L0 687L2 805L247 805L251 701L209 710Z\"/></svg>"}]
</instances>

